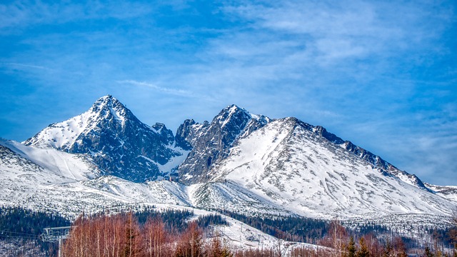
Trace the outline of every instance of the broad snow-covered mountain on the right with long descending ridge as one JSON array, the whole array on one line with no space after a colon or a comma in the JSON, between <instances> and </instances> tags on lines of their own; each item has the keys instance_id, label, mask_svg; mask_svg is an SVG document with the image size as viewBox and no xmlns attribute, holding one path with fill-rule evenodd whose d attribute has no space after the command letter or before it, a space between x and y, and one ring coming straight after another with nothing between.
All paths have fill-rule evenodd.
<instances>
[{"instance_id":1,"label":"broad snow-covered mountain on the right with long descending ridge","mask_svg":"<svg viewBox=\"0 0 457 257\"><path fill-rule=\"evenodd\" d=\"M424 189L423 183L406 183L405 178L384 171L318 131L295 118L271 121L240 138L229 156L210 171L212 187L236 185L291 213L318 218L391 213L446 216L455 206ZM224 193L215 194L202 206L238 204L224 198ZM237 209L252 204L246 201Z\"/></svg>"}]
</instances>

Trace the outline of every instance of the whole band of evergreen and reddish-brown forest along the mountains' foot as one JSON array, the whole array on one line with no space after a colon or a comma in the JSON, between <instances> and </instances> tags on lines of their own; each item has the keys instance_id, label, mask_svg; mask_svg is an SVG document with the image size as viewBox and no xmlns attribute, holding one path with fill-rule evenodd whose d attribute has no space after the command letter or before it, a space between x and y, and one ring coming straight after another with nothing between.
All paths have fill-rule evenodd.
<instances>
[{"instance_id":1,"label":"whole band of evergreen and reddish-brown forest along the mountains' foot","mask_svg":"<svg viewBox=\"0 0 457 257\"><path fill-rule=\"evenodd\" d=\"M215 226L228 226L219 214L196 216L189 210L158 210L86 214L70 223L57 213L0 208L0 254L2 256L56 256L57 245L39 240L45 227L69 226L64 241L64 256L457 256L457 218L446 231L454 248L443 248L443 238L433 237L422 247L411 247L407 238L382 236L383 227L366 226L353 231L340 221L331 222L301 217L260 218L220 211L249 226L276 236L273 247L238 248L221 235ZM437 233L438 234L438 233ZM288 241L318 245L288 248ZM9 245L8 245L9 243ZM4 247L9 246L9 248ZM411 255L416 254L416 255Z\"/></svg>"}]
</instances>

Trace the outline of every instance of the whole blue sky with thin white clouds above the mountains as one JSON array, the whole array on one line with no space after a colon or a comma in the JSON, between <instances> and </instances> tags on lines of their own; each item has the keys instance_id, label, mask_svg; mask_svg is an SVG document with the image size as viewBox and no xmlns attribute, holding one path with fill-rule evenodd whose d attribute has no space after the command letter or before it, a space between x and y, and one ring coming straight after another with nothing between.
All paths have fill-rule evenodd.
<instances>
[{"instance_id":1,"label":"whole blue sky with thin white clouds above the mountains","mask_svg":"<svg viewBox=\"0 0 457 257\"><path fill-rule=\"evenodd\" d=\"M111 94L176 131L237 104L457 185L456 1L2 1L0 136Z\"/></svg>"}]
</instances>

